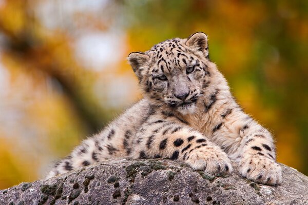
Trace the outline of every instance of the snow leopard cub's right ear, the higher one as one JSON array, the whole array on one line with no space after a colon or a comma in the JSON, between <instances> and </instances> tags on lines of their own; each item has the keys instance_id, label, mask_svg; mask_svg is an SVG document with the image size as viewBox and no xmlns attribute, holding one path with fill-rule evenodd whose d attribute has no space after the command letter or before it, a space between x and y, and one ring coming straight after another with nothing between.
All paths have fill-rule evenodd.
<instances>
[{"instance_id":1,"label":"snow leopard cub's right ear, the higher one","mask_svg":"<svg viewBox=\"0 0 308 205\"><path fill-rule=\"evenodd\" d=\"M197 32L191 34L185 43L186 46L190 47L192 50L202 51L204 56L208 58L208 44L207 44L207 36L203 32Z\"/></svg>"}]
</instances>

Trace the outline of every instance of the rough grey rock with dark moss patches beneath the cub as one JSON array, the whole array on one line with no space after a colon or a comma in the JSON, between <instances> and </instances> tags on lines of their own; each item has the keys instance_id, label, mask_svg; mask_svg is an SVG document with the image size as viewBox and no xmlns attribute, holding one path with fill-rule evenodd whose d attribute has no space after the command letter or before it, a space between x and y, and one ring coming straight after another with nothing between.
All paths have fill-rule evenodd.
<instances>
[{"instance_id":1,"label":"rough grey rock with dark moss patches beneath the cub","mask_svg":"<svg viewBox=\"0 0 308 205\"><path fill-rule=\"evenodd\" d=\"M308 177L282 166L283 183L265 186L210 175L171 160L113 159L49 180L0 191L0 204L308 204Z\"/></svg>"}]
</instances>

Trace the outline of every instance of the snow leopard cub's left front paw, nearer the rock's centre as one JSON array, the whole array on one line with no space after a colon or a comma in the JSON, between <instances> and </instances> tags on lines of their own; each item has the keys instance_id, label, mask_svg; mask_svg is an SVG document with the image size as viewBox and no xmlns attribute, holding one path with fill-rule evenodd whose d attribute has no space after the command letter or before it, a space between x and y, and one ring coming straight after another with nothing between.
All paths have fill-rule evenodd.
<instances>
[{"instance_id":1,"label":"snow leopard cub's left front paw, nearer the rock's centre","mask_svg":"<svg viewBox=\"0 0 308 205\"><path fill-rule=\"evenodd\" d=\"M232 172L231 161L219 147L207 146L192 149L185 158L192 169L203 170L210 174Z\"/></svg>"}]
</instances>

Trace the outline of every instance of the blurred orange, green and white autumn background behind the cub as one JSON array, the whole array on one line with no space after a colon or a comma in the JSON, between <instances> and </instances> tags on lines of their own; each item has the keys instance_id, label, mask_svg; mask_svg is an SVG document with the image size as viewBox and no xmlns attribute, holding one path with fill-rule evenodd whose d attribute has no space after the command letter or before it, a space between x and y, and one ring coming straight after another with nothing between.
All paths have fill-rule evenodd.
<instances>
[{"instance_id":1,"label":"blurred orange, green and white autumn background behind the cub","mask_svg":"<svg viewBox=\"0 0 308 205\"><path fill-rule=\"evenodd\" d=\"M308 1L0 0L0 189L142 97L130 52L197 31L278 161L307 175Z\"/></svg>"}]
</instances>

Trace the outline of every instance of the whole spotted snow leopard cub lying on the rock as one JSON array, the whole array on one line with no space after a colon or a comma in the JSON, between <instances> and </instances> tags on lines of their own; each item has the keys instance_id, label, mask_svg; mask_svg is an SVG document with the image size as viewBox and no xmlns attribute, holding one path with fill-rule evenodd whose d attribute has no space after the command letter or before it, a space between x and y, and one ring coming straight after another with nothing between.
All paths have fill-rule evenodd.
<instances>
[{"instance_id":1,"label":"whole spotted snow leopard cub lying on the rock","mask_svg":"<svg viewBox=\"0 0 308 205\"><path fill-rule=\"evenodd\" d=\"M144 98L56 163L47 178L128 156L179 160L208 173L232 172L232 159L248 179L281 182L271 133L237 105L209 60L204 33L166 40L128 60Z\"/></svg>"}]
</instances>

